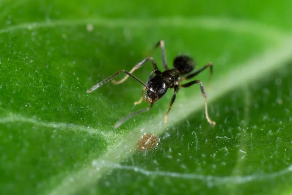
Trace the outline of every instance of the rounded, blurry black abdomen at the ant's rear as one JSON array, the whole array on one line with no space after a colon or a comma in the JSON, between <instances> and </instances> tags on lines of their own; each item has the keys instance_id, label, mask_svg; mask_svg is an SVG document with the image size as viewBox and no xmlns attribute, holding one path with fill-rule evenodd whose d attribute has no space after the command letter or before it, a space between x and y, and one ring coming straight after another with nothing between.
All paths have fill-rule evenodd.
<instances>
[{"instance_id":1,"label":"rounded, blurry black abdomen at the ant's rear","mask_svg":"<svg viewBox=\"0 0 292 195\"><path fill-rule=\"evenodd\" d=\"M196 63L192 58L180 55L173 60L173 66L184 75L194 70Z\"/></svg>"}]
</instances>

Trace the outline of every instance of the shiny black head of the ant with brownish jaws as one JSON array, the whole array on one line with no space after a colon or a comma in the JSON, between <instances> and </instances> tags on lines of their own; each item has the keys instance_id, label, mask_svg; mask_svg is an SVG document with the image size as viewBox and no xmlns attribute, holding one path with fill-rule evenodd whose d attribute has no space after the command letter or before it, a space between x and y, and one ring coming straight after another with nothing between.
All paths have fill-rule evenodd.
<instances>
[{"instance_id":1,"label":"shiny black head of the ant with brownish jaws","mask_svg":"<svg viewBox=\"0 0 292 195\"><path fill-rule=\"evenodd\" d=\"M147 86L148 88L145 93L145 101L147 103L154 103L162 98L168 89L164 79L159 76L155 76L149 80Z\"/></svg>"}]
</instances>

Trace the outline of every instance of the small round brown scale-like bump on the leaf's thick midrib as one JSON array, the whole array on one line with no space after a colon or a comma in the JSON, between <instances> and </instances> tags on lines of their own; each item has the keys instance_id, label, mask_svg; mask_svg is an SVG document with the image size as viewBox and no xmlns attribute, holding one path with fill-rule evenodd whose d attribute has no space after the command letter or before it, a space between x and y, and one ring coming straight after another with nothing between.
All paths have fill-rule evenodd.
<instances>
[{"instance_id":1,"label":"small round brown scale-like bump on the leaf's thick midrib","mask_svg":"<svg viewBox=\"0 0 292 195\"><path fill-rule=\"evenodd\" d=\"M144 133L141 139L137 142L137 149L140 151L155 149L160 142L160 138L154 134Z\"/></svg>"}]
</instances>

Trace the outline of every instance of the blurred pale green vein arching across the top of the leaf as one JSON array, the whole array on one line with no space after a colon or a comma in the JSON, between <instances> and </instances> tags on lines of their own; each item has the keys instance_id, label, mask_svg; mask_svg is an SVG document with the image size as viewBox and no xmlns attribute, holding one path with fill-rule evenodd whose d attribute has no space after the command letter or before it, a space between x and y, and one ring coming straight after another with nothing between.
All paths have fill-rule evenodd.
<instances>
[{"instance_id":1,"label":"blurred pale green vein arching across the top of the leaf","mask_svg":"<svg viewBox=\"0 0 292 195\"><path fill-rule=\"evenodd\" d=\"M157 19L110 19L110 18L89 18L76 20L48 20L41 22L22 23L11 25L0 29L0 34L16 30L33 30L38 28L52 28L64 26L79 26L88 23L105 26L108 28L132 27L132 28L153 28L153 27L181 27L181 28L203 28L210 30L226 30L234 33L249 33L270 41L281 40L289 33L285 33L275 27L249 20L235 20L227 18L197 17L197 18L157 18ZM84 28L85 29L85 28Z\"/></svg>"}]
</instances>

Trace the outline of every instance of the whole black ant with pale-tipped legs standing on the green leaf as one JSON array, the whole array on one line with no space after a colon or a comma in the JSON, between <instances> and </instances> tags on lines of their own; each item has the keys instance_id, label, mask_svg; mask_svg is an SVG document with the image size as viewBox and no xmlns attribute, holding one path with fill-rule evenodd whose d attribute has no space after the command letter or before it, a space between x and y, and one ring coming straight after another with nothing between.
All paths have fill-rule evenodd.
<instances>
[{"instance_id":1,"label":"whole black ant with pale-tipped legs standing on the green leaf","mask_svg":"<svg viewBox=\"0 0 292 195\"><path fill-rule=\"evenodd\" d=\"M126 73L127 75L119 81L112 80L112 82L114 84L120 84L120 83L124 82L128 77L132 77L132 78L136 79L138 82L140 82L142 85L144 85L144 88L142 91L142 97L140 98L139 101L134 102L134 104L136 105L136 104L140 104L142 102L144 93L146 91L145 101L148 104L150 104L150 107L148 107L146 109L139 110L139 111L134 112L134 113L131 113L128 116L121 118L114 125L115 128L118 128L121 124L123 124L129 118L134 117L137 114L140 114L140 113L143 113L143 112L150 110L152 108L154 102L156 102L157 100L159 100L160 98L162 98L164 96L164 94L166 93L168 88L174 88L174 94L170 100L169 108L168 108L168 110L165 114L165 117L164 117L164 122L166 123L167 122L167 115L171 109L171 106L176 98L176 94L178 93L180 87L185 88L185 87L190 87L193 84L200 83L201 94L202 94L203 98L205 99L206 119L210 124L215 125L216 124L215 121L212 121L208 115L207 98L206 98L206 94L205 94L204 87L203 87L201 80L193 80L193 81L190 81L186 84L180 84L183 80L188 80L190 78L195 77L196 75L198 75L199 73L201 73L203 70L205 70L208 67L210 67L210 75L212 76L213 64L208 63L205 66L203 66L201 69L197 70L196 72L189 74L193 71L196 64L194 63L192 58L185 56L185 55L179 55L173 60L173 68L168 69L166 57L165 57L164 40L158 41L156 43L156 45L154 46L154 48L152 49L152 51L154 49L156 49L158 46L160 46L161 50L162 50L162 61L163 61L164 72L161 72L158 69L157 64L153 58L148 57L148 58L145 58L142 61L140 61L138 64L136 64L130 72L125 71L125 70L120 70L119 72L115 73L114 75L110 76L109 78L106 78L105 80L103 80L100 83L91 87L89 90L87 90L87 93L91 93L92 91L99 88L100 86L102 86L106 82L110 81L112 78L116 77L118 74L120 74L122 72ZM134 75L132 75L132 73L135 70L137 70L138 68L141 68L148 60L150 60L152 62L153 70L150 73L150 75L146 81L146 84L145 84L139 78L136 78ZM154 77L153 77L153 74L155 74ZM185 76L185 77L182 78L182 76Z\"/></svg>"}]
</instances>

